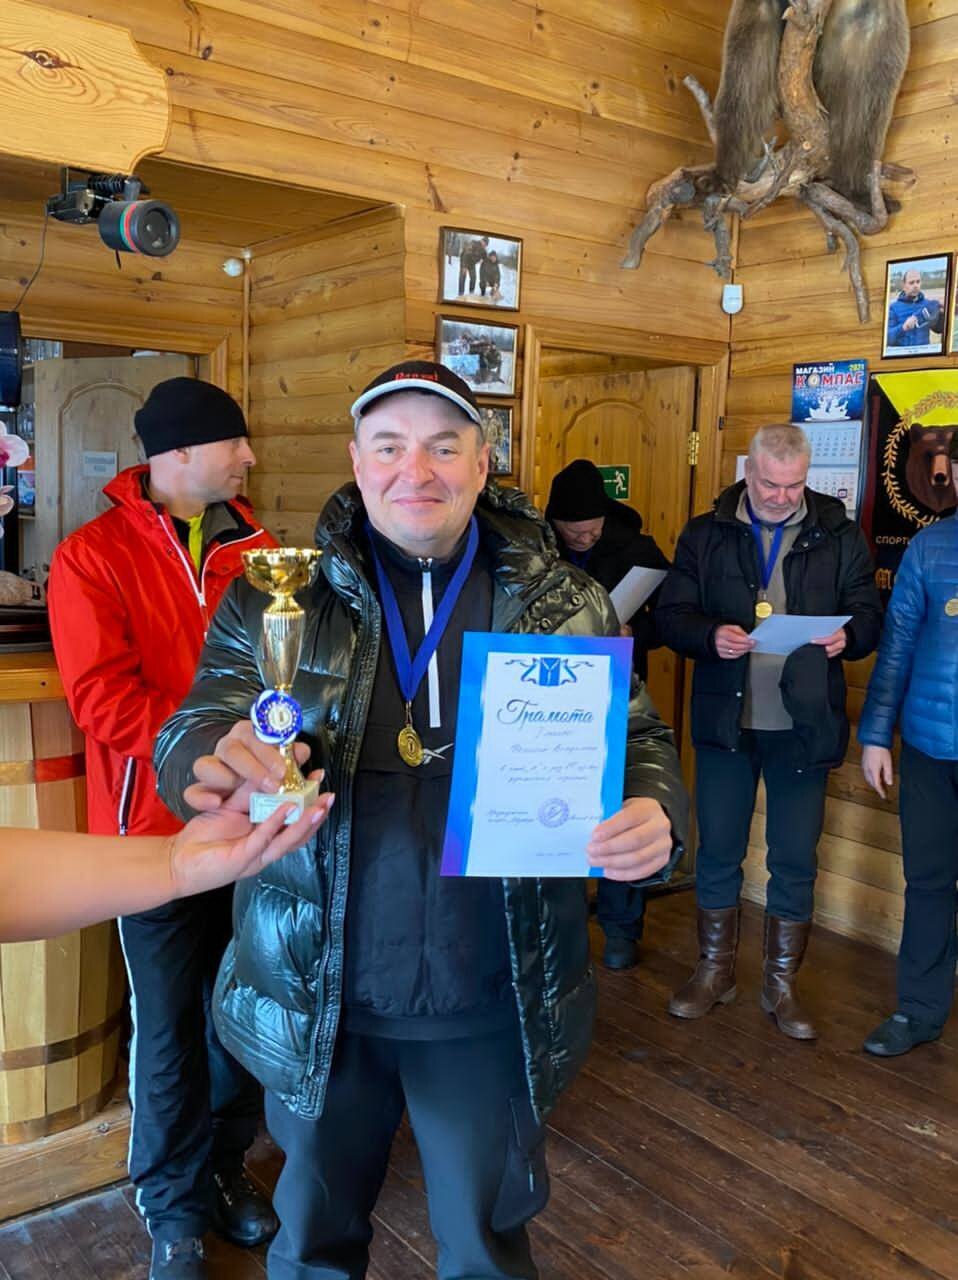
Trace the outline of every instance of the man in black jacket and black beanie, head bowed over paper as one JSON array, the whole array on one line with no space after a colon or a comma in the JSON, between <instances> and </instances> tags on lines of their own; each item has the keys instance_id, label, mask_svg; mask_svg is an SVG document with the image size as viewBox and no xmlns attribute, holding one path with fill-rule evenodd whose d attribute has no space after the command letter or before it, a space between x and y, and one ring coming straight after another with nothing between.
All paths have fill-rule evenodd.
<instances>
[{"instance_id":1,"label":"man in black jacket and black beanie, head bowed over paper","mask_svg":"<svg viewBox=\"0 0 958 1280\"><path fill-rule=\"evenodd\" d=\"M602 472L588 458L576 458L553 479L546 520L552 525L558 554L576 564L607 591L630 568L667 570L669 561L654 538L642 531L642 516L606 495ZM633 637L633 666L648 678L648 653L661 645L654 620L658 591L622 627ZM596 891L597 918L606 934L602 963L607 969L631 969L638 963L645 924L645 892L634 884L601 879Z\"/></svg>"}]
</instances>

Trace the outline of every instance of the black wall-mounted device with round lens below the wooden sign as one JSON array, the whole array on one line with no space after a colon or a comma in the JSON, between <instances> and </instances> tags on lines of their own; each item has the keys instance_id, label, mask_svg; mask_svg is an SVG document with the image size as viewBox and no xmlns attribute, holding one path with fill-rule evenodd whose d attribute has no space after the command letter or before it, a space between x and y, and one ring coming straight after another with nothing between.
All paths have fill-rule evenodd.
<instances>
[{"instance_id":1,"label":"black wall-mounted device with round lens below the wooden sign","mask_svg":"<svg viewBox=\"0 0 958 1280\"><path fill-rule=\"evenodd\" d=\"M140 178L122 173L91 173L70 179L63 170L63 189L50 196L46 211L60 223L96 223L100 239L120 253L165 257L179 243L179 219L160 200L142 200L150 191Z\"/></svg>"}]
</instances>

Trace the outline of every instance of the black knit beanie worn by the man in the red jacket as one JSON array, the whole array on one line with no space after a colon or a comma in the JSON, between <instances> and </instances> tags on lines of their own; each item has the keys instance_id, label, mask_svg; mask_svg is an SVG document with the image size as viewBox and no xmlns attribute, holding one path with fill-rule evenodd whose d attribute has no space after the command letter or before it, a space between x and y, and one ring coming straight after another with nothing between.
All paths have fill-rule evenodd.
<instances>
[{"instance_id":1,"label":"black knit beanie worn by the man in the red jacket","mask_svg":"<svg viewBox=\"0 0 958 1280\"><path fill-rule=\"evenodd\" d=\"M137 410L133 424L147 458L250 434L233 397L199 378L168 378L158 383Z\"/></svg>"}]
</instances>

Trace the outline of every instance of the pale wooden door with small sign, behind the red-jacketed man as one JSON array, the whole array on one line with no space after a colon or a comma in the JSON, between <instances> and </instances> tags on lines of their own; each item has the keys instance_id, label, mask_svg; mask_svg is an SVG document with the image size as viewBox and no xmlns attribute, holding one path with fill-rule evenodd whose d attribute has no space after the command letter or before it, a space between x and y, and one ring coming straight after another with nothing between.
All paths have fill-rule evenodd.
<instances>
[{"instance_id":1,"label":"pale wooden door with small sign, behind the red-jacketed man","mask_svg":"<svg viewBox=\"0 0 958 1280\"><path fill-rule=\"evenodd\" d=\"M104 485L141 461L133 415L156 383L192 374L190 356L37 362L36 525L24 563L49 564L59 541L105 509Z\"/></svg>"}]
</instances>

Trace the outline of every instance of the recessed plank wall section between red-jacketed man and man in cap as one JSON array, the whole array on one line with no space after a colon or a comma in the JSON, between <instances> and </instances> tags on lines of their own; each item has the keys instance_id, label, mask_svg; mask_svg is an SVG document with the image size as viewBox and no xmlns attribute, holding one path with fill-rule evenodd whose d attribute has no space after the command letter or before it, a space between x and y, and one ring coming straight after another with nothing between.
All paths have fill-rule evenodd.
<instances>
[{"instance_id":1,"label":"recessed plank wall section between red-jacketed man and man in cap","mask_svg":"<svg viewBox=\"0 0 958 1280\"><path fill-rule=\"evenodd\" d=\"M402 215L388 207L254 250L250 497L289 545L352 479L350 404L403 358Z\"/></svg>"}]
</instances>

